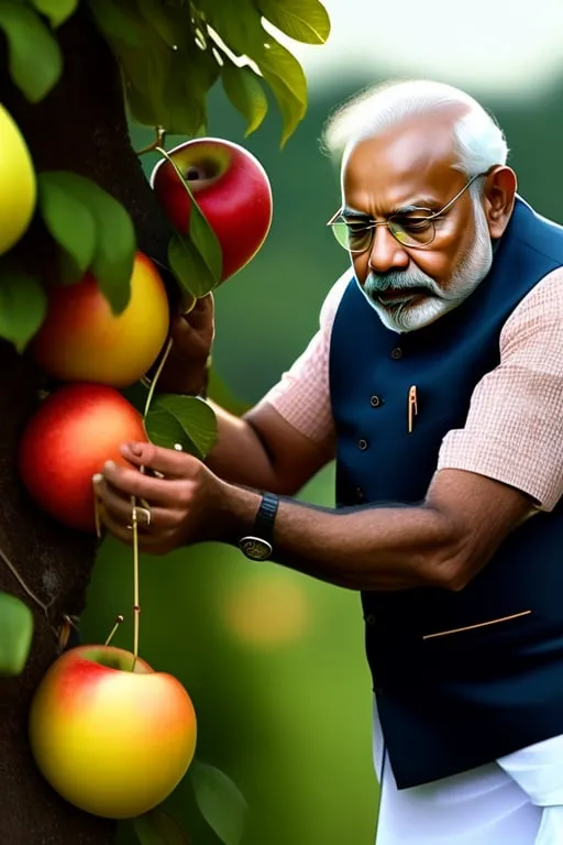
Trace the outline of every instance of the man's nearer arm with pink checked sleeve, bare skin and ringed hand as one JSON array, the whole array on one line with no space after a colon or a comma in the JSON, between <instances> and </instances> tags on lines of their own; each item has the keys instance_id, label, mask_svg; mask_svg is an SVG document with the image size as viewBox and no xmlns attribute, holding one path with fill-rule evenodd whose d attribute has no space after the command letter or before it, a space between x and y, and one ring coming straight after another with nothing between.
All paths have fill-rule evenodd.
<instances>
[{"instance_id":1,"label":"man's nearer arm with pink checked sleeve, bare skin and ringed hand","mask_svg":"<svg viewBox=\"0 0 563 845\"><path fill-rule=\"evenodd\" d=\"M444 439L421 505L333 512L283 500L275 560L355 590L424 584L460 590L525 518L552 509L563 494L563 278L559 282L538 285L507 322L500 364L477 385L464 429ZM166 476L106 469L99 482L104 522L124 541L131 541L124 528L131 493L152 505L152 524L142 534L147 551L207 539L235 544L252 529L258 493L219 480L179 452L139 445L123 453Z\"/></svg>"}]
</instances>

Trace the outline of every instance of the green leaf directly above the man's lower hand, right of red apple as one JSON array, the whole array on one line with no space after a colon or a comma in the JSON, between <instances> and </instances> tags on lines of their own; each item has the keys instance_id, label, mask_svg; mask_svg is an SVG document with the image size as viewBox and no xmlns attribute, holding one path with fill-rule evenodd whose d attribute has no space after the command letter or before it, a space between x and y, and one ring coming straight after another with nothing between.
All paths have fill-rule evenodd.
<instances>
[{"instance_id":1,"label":"green leaf directly above the man's lower hand, right of red apple","mask_svg":"<svg viewBox=\"0 0 563 845\"><path fill-rule=\"evenodd\" d=\"M148 438L156 446L184 451L203 460L217 440L216 415L205 399L197 396L161 394L145 417Z\"/></svg>"}]
</instances>

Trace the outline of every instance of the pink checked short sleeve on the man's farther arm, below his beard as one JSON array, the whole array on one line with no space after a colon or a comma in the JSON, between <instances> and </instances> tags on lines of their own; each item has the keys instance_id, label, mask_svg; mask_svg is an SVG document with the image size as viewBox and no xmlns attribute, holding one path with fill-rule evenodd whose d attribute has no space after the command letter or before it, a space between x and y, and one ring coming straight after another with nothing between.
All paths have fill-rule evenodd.
<instances>
[{"instance_id":1,"label":"pink checked short sleeve on the man's farther arm, below his beard","mask_svg":"<svg viewBox=\"0 0 563 845\"><path fill-rule=\"evenodd\" d=\"M319 318L319 330L291 367L258 403L272 405L300 434L321 448L334 451L334 425L330 403L329 352L332 323L350 271L331 287Z\"/></svg>"}]
</instances>

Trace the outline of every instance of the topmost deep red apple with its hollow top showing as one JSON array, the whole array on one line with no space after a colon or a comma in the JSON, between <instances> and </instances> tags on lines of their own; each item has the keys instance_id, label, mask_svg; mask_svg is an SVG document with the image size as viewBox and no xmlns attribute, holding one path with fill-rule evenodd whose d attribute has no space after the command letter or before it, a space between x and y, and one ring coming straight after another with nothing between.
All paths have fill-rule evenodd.
<instances>
[{"instance_id":1,"label":"topmost deep red apple with its hollow top showing","mask_svg":"<svg viewBox=\"0 0 563 845\"><path fill-rule=\"evenodd\" d=\"M252 153L220 138L187 141L168 155L221 244L224 282L254 257L269 232L273 202L268 176ZM191 200L166 158L154 167L151 186L175 229L186 234Z\"/></svg>"}]
</instances>

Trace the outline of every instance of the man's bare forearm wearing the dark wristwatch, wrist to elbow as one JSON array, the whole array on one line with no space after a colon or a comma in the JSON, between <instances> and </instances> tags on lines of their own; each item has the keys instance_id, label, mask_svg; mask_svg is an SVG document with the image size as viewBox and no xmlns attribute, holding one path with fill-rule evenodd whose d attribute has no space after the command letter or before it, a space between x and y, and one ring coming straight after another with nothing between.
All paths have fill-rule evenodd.
<instances>
[{"instance_id":1,"label":"man's bare forearm wearing the dark wristwatch, wrist to elbow","mask_svg":"<svg viewBox=\"0 0 563 845\"><path fill-rule=\"evenodd\" d=\"M235 502L227 538L233 544L252 530L260 496L240 491ZM448 586L450 537L445 518L423 505L331 511L282 500L274 560L350 590Z\"/></svg>"}]
</instances>

